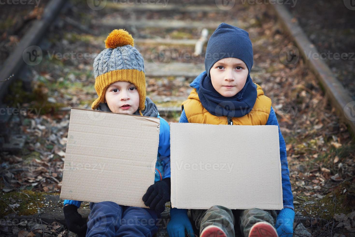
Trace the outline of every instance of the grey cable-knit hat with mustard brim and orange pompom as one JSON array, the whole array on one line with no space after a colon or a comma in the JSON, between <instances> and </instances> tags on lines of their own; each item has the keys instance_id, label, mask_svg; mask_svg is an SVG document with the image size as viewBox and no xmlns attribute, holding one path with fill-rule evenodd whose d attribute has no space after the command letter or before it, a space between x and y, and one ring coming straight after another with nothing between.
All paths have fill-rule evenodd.
<instances>
[{"instance_id":1,"label":"grey cable-knit hat with mustard brim and orange pompom","mask_svg":"<svg viewBox=\"0 0 355 237\"><path fill-rule=\"evenodd\" d=\"M98 98L91 108L105 102L106 88L117 81L131 82L137 87L142 115L146 101L146 77L144 60L134 47L134 39L124 29L113 30L105 40L105 47L94 59L95 90Z\"/></svg>"}]
</instances>

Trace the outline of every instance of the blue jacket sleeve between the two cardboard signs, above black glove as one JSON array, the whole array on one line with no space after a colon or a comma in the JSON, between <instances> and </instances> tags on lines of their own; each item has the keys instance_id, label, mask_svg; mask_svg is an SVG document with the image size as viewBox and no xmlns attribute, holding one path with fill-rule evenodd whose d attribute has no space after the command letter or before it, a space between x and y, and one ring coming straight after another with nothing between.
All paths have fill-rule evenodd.
<instances>
[{"instance_id":1,"label":"blue jacket sleeve between the two cardboard signs, above black glove","mask_svg":"<svg viewBox=\"0 0 355 237\"><path fill-rule=\"evenodd\" d=\"M163 165L163 179L170 178L170 126L162 117L160 118L158 153Z\"/></svg>"}]
</instances>

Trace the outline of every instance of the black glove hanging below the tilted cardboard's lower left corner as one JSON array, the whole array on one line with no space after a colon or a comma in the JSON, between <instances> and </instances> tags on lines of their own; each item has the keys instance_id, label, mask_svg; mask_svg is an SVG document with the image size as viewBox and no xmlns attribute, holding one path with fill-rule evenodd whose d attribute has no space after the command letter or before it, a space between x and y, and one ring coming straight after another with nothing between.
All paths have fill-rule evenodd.
<instances>
[{"instance_id":1,"label":"black glove hanging below the tilted cardboard's lower left corner","mask_svg":"<svg viewBox=\"0 0 355 237\"><path fill-rule=\"evenodd\" d=\"M68 230L77 233L78 236L86 236L87 224L78 212L75 205L66 205L63 208L64 218L67 223Z\"/></svg>"}]
</instances>

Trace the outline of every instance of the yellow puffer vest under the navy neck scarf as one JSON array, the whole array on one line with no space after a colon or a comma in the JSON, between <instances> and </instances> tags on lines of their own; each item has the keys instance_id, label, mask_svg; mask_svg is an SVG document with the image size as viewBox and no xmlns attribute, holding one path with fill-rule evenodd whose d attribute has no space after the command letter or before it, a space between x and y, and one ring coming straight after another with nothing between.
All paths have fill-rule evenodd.
<instances>
[{"instance_id":1,"label":"yellow puffer vest under the navy neck scarf","mask_svg":"<svg viewBox=\"0 0 355 237\"><path fill-rule=\"evenodd\" d=\"M252 110L242 117L226 117L215 116L207 111L202 106L200 98L193 88L186 101L181 104L182 109L185 110L186 118L189 123L204 123L204 124L231 124L233 125L265 125L270 114L271 99L264 95L262 88L254 83L257 88L257 97Z\"/></svg>"}]
</instances>

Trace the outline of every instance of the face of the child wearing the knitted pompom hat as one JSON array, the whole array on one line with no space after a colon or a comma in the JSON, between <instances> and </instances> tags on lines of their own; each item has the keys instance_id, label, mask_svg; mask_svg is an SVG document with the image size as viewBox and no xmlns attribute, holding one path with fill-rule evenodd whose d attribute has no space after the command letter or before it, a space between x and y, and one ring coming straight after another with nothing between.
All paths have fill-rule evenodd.
<instances>
[{"instance_id":1,"label":"face of the child wearing the knitted pompom hat","mask_svg":"<svg viewBox=\"0 0 355 237\"><path fill-rule=\"evenodd\" d=\"M105 103L114 113L133 114L139 107L139 100L136 86L126 81L109 85L105 92Z\"/></svg>"}]
</instances>

